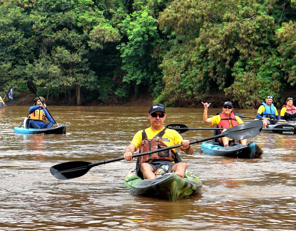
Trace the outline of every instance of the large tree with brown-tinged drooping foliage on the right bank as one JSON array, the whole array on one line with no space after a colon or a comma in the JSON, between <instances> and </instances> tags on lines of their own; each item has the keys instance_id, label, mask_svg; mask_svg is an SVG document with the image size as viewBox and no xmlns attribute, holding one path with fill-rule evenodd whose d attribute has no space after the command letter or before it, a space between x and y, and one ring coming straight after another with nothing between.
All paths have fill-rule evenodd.
<instances>
[{"instance_id":1,"label":"large tree with brown-tinged drooping foliage on the right bank","mask_svg":"<svg viewBox=\"0 0 296 231\"><path fill-rule=\"evenodd\" d=\"M267 93L277 96L282 58L270 7L252 0L172 2L159 17L170 38L163 94L199 99L218 88L243 107L258 105Z\"/></svg>"}]
</instances>

